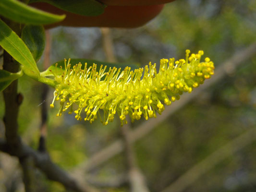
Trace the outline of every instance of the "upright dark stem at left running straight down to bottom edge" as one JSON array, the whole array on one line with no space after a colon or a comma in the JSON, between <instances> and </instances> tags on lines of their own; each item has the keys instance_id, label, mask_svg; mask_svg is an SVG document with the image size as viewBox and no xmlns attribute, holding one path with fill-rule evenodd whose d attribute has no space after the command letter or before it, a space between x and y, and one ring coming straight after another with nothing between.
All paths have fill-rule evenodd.
<instances>
[{"instance_id":1,"label":"upright dark stem at left running straight down to bottom edge","mask_svg":"<svg viewBox=\"0 0 256 192\"><path fill-rule=\"evenodd\" d=\"M9 72L18 72L19 64L16 63L12 57L4 51L4 63L3 69ZM4 91L4 102L5 102L5 137L6 142L9 145L11 151L21 151L21 139L18 135L18 112L19 106L22 103L23 96L17 94L18 81L12 82ZM33 169L33 164L29 157L22 156L22 154L17 154L19 157L20 164L23 169L23 180L26 192L35 192L35 172Z\"/></svg>"}]
</instances>

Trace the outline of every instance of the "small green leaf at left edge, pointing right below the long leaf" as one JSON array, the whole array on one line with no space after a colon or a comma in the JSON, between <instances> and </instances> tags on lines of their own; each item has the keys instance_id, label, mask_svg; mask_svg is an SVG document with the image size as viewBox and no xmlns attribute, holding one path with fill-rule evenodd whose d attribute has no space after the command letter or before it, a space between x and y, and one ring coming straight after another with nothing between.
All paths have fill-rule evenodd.
<instances>
[{"instance_id":1,"label":"small green leaf at left edge, pointing right below the long leaf","mask_svg":"<svg viewBox=\"0 0 256 192\"><path fill-rule=\"evenodd\" d=\"M23 72L7 72L5 70L0 70L0 92L3 91L6 87L8 87L9 84L12 83L12 81L18 79L23 75Z\"/></svg>"}]
</instances>

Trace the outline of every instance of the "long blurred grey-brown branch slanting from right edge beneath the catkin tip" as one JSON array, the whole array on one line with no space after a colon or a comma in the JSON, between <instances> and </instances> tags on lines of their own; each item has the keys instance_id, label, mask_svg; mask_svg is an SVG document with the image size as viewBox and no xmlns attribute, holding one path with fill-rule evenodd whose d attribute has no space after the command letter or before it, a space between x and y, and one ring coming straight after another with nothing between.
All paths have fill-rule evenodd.
<instances>
[{"instance_id":1,"label":"long blurred grey-brown branch slanting from right edge beneath the catkin tip","mask_svg":"<svg viewBox=\"0 0 256 192\"><path fill-rule=\"evenodd\" d=\"M185 106L188 102L198 96L202 91L210 87L211 85L217 83L226 75L230 75L235 72L235 69L241 65L244 61L252 58L256 54L256 43L251 44L247 48L236 52L230 59L226 60L224 63L220 64L220 66L215 70L215 74L211 79L207 80L205 84L200 85L190 94L184 94L181 96L179 101L174 102L171 106L166 106L166 110L162 113L162 115L158 116L157 119L150 119L144 121L137 128L131 132L131 142L135 142L142 137L146 136L149 132L151 132L158 124L160 124L163 120L166 120L170 115L174 112ZM90 171L111 157L119 154L124 149L123 143L121 139L116 140L109 146L103 148L98 153L93 155L90 159L86 160L84 163L80 164L76 169Z\"/></svg>"}]
</instances>

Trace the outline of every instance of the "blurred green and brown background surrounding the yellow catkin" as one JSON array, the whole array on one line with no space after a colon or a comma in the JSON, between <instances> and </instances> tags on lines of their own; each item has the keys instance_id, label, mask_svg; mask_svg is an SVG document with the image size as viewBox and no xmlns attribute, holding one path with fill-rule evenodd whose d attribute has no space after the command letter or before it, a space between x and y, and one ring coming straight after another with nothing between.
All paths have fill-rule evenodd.
<instances>
[{"instance_id":1,"label":"blurred green and brown background surrounding the yellow catkin","mask_svg":"<svg viewBox=\"0 0 256 192\"><path fill-rule=\"evenodd\" d=\"M147 129L145 120L123 129L118 118L108 126L99 120L77 121L68 114L57 118L58 109L49 109L54 90L49 88L43 98L42 84L23 76L19 132L25 143L37 148L41 108L46 104L46 142L52 160L101 191L129 191L131 153L146 191L256 192L256 54L243 55L256 43L255 0L177 0L136 29L57 27L47 32L47 38L50 51L38 63L41 70L64 58L144 67L149 61L158 64L161 58L184 58L185 49L204 50L216 69L234 61L234 56L243 57L237 68L223 68L219 81L207 84L207 80L195 98L181 96L172 104L180 106L171 109L171 105L162 113L166 118L158 120L158 116L158 123L147 124ZM2 95L0 103L2 120ZM2 121L0 128L3 136ZM128 137L133 143L127 142L130 152L125 144L122 147L125 130L133 133ZM37 177L40 192L65 191L39 171ZM0 153L0 191L24 192L18 160L4 153Z\"/></svg>"}]
</instances>

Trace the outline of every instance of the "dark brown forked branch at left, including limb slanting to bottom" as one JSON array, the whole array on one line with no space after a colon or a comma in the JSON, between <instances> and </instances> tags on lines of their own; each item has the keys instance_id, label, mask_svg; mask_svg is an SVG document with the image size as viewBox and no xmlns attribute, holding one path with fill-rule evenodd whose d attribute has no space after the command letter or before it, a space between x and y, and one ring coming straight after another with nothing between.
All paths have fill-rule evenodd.
<instances>
[{"instance_id":1,"label":"dark brown forked branch at left, including limb slanting to bottom","mask_svg":"<svg viewBox=\"0 0 256 192\"><path fill-rule=\"evenodd\" d=\"M3 69L9 72L18 72L19 64L4 51L4 64ZM63 184L67 189L76 192L95 192L94 189L87 186L85 183L80 185L74 180L67 172L62 170L54 164L47 153L40 153L29 146L22 143L18 135L18 111L22 103L23 96L17 94L18 81L13 81L4 91L5 102L5 138L0 139L0 150L12 156L19 158L24 172L24 184L26 192L35 191L33 183L34 165L39 168L50 180L58 181ZM32 159L32 160L31 160Z\"/></svg>"}]
</instances>

